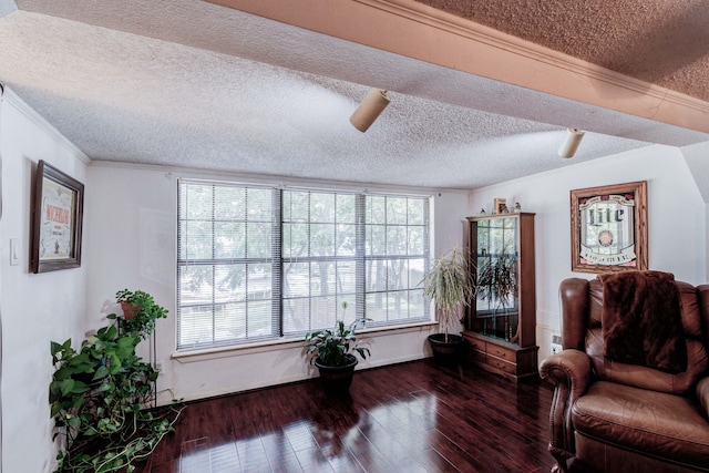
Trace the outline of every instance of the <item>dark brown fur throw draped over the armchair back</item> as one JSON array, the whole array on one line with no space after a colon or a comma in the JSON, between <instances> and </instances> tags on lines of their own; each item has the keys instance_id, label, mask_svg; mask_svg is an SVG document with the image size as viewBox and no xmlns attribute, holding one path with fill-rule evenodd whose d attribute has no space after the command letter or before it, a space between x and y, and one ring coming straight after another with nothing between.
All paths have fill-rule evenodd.
<instances>
[{"instance_id":1,"label":"dark brown fur throw draped over the armchair back","mask_svg":"<svg viewBox=\"0 0 709 473\"><path fill-rule=\"evenodd\" d=\"M603 284L604 356L667 372L687 370L687 345L675 276L662 271L598 275Z\"/></svg>"}]
</instances>

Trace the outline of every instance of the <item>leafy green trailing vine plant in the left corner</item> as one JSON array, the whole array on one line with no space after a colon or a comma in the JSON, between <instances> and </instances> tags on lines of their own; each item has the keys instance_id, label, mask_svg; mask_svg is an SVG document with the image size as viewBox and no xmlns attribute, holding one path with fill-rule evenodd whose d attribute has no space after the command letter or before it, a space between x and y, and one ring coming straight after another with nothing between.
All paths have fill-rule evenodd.
<instances>
[{"instance_id":1,"label":"leafy green trailing vine plant in the left corner","mask_svg":"<svg viewBox=\"0 0 709 473\"><path fill-rule=\"evenodd\" d=\"M132 472L174 430L182 407L147 409L158 372L135 354L141 340L167 317L150 295L124 289L116 299L140 299L130 319L112 313L112 323L83 340L51 342L55 367L49 387L56 435L65 435L55 473ZM148 297L145 297L148 296Z\"/></svg>"}]
</instances>

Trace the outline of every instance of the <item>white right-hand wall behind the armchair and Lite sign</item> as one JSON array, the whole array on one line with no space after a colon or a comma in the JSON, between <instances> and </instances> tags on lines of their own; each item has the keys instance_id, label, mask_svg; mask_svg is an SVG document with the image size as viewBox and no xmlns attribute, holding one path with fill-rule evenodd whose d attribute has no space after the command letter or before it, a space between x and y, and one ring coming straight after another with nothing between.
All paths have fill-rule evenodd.
<instances>
[{"instance_id":1,"label":"white right-hand wall behind the armchair and Lite sign","mask_svg":"<svg viewBox=\"0 0 709 473\"><path fill-rule=\"evenodd\" d=\"M582 144L583 146L583 144ZM679 148L654 145L554 172L476 189L469 210L491 213L495 197L520 202L536 213L536 304L540 360L549 353L558 331L558 285L568 277L593 274L571 270L569 191L636 181L648 182L650 269L675 274L691 284L707 281L706 207Z\"/></svg>"}]
</instances>

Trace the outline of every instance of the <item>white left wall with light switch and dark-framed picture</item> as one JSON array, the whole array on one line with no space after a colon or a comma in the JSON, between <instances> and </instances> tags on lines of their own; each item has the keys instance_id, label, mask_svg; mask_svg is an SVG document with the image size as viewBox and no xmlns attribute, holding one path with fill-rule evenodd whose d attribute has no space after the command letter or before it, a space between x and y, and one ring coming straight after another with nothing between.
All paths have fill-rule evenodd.
<instances>
[{"instance_id":1,"label":"white left wall with light switch and dark-framed picture","mask_svg":"<svg viewBox=\"0 0 709 473\"><path fill-rule=\"evenodd\" d=\"M0 101L0 157L2 471L48 472L55 456L50 341L83 339L86 268L29 273L32 169L44 160L85 183L86 158L7 89ZM18 266L10 266L10 238L21 245Z\"/></svg>"}]
</instances>

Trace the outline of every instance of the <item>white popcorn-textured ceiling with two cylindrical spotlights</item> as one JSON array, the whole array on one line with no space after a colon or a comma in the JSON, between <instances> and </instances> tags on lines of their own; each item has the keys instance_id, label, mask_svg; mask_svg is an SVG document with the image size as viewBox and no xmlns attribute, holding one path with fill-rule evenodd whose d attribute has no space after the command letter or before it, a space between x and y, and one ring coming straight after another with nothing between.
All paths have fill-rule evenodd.
<instances>
[{"instance_id":1,"label":"white popcorn-textured ceiling with two cylindrical spotlights","mask_svg":"<svg viewBox=\"0 0 709 473\"><path fill-rule=\"evenodd\" d=\"M469 3L443 8L467 16L453 7ZM532 40L549 27L533 19L546 2L477 3L475 21L513 34ZM501 21L493 4L512 17ZM709 140L202 1L0 0L0 82L96 161L472 188ZM585 41L562 31L568 50L538 41L568 53ZM706 80L665 86L706 99ZM348 119L370 86L393 100L362 134ZM588 130L573 160L556 155L566 126Z\"/></svg>"}]
</instances>

